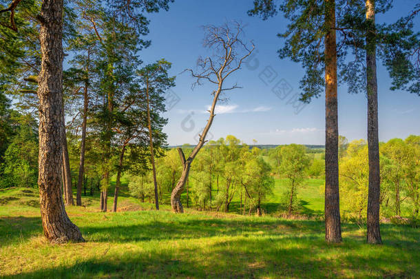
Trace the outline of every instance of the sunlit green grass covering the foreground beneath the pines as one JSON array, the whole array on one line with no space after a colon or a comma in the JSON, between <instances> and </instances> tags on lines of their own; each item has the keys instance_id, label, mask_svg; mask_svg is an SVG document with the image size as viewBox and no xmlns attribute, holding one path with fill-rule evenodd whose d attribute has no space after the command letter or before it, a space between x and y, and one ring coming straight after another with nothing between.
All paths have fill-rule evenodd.
<instances>
[{"instance_id":1,"label":"sunlit green grass covering the foreground beneath the pines","mask_svg":"<svg viewBox=\"0 0 420 279\"><path fill-rule=\"evenodd\" d=\"M317 183L308 187L315 194ZM419 229L408 226L381 225L384 245L374 246L363 227L343 224L344 242L327 245L319 221L141 210L153 205L123 189L120 207L140 210L101 213L98 196L83 197L86 207L67 212L87 242L50 245L27 191L0 191L2 278L420 278ZM318 210L315 201L306 207Z\"/></svg>"}]
</instances>

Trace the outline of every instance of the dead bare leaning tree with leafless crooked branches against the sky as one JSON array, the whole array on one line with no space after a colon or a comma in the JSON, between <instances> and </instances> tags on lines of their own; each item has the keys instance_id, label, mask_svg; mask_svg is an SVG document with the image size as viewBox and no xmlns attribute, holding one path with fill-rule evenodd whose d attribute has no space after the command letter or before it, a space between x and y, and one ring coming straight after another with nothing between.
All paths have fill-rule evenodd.
<instances>
[{"instance_id":1,"label":"dead bare leaning tree with leafless crooked branches against the sky","mask_svg":"<svg viewBox=\"0 0 420 279\"><path fill-rule=\"evenodd\" d=\"M233 90L240 88L236 83L231 87L225 87L224 82L233 72L240 70L242 62L253 52L255 46L251 43L249 47L244 41L243 28L241 23L232 22L224 23L222 26L206 25L203 27L204 30L204 48L208 48L212 54L205 58L200 57L197 61L198 72L187 69L191 72L191 75L196 78L195 85L201 85L203 81L208 81L216 86L211 95L213 96L213 102L208 110L210 113L209 120L207 121L204 130L200 134L200 141L196 147L194 147L191 155L185 159L184 152L181 148L178 148L180 159L182 162L182 174L176 187L171 193L171 206L172 210L176 213L182 213L184 211L180 196L184 191L185 183L187 182L189 169L194 158L197 156L201 147L206 143L205 138L213 118L216 109L216 104L220 101L220 98L227 90Z\"/></svg>"}]
</instances>

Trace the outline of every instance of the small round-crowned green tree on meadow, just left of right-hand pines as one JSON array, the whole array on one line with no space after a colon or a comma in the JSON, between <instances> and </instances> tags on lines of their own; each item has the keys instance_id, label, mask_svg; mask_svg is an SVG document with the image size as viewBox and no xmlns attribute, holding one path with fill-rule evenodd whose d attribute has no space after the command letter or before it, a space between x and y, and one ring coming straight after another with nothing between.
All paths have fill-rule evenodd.
<instances>
[{"instance_id":1,"label":"small round-crowned green tree on meadow, just left of right-hand pines","mask_svg":"<svg viewBox=\"0 0 420 279\"><path fill-rule=\"evenodd\" d=\"M306 169L309 166L309 158L306 155L304 145L286 145L281 149L282 164L280 165L280 175L288 180L289 200L287 214L291 216L293 210L293 198L296 195L297 187L302 186L306 178Z\"/></svg>"}]
</instances>

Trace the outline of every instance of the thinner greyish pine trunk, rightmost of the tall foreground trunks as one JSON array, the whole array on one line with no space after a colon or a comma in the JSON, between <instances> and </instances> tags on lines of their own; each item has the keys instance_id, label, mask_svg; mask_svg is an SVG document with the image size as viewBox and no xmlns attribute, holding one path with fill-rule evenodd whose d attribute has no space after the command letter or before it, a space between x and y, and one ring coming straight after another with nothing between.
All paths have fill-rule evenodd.
<instances>
[{"instance_id":1,"label":"thinner greyish pine trunk, rightmost of the tall foreground trunks","mask_svg":"<svg viewBox=\"0 0 420 279\"><path fill-rule=\"evenodd\" d=\"M376 38L375 38L375 0L366 0L366 78L368 95L368 154L369 188L367 210L367 242L381 244L379 230L379 197L381 176L379 174L379 136L378 136L378 86L376 74Z\"/></svg>"}]
</instances>

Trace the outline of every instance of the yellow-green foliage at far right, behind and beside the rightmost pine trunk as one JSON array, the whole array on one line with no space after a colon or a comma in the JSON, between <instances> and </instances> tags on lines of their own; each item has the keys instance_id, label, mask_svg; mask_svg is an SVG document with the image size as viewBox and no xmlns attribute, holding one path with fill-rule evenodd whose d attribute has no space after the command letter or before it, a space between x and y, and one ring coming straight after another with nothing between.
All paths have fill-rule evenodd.
<instances>
[{"instance_id":1,"label":"yellow-green foliage at far right, behind and beside the rightmost pine trunk","mask_svg":"<svg viewBox=\"0 0 420 279\"><path fill-rule=\"evenodd\" d=\"M419 214L419 144L418 136L406 141L393 138L380 145L381 216ZM340 198L345 216L364 219L368 202L368 146L366 141L352 141L340 161Z\"/></svg>"}]
</instances>

